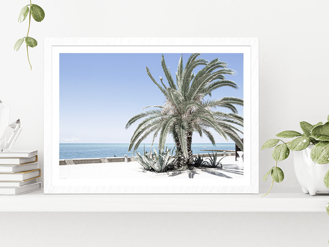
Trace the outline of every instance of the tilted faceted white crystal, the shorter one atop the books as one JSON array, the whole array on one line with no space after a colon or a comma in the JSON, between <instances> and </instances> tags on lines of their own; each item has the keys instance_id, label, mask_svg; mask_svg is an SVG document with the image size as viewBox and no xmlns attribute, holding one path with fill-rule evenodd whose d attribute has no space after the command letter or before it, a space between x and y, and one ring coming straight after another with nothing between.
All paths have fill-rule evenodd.
<instances>
[{"instance_id":1,"label":"tilted faceted white crystal, the shorter one atop the books","mask_svg":"<svg viewBox=\"0 0 329 247\"><path fill-rule=\"evenodd\" d=\"M5 128L2 136L0 137L0 147L2 152L9 152L12 149L21 131L22 128L19 119Z\"/></svg>"}]
</instances>

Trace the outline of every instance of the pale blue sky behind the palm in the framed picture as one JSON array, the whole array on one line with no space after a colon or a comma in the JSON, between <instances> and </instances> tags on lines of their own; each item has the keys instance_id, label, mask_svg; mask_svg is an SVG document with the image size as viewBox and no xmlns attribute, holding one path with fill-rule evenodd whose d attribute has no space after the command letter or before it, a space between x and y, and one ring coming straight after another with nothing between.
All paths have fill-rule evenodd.
<instances>
[{"instance_id":1,"label":"pale blue sky behind the palm in the framed picture","mask_svg":"<svg viewBox=\"0 0 329 247\"><path fill-rule=\"evenodd\" d=\"M164 103L164 95L145 71L147 66L160 82L165 76L161 68L161 53L61 53L60 54L60 143L129 143L137 123L128 130L128 119L148 105ZM181 54L164 53L173 78ZM183 63L190 53L183 53ZM204 53L199 58L219 58L237 71L226 76L235 81L239 90L216 89L212 98L236 96L243 98L243 54ZM197 67L195 71L201 69ZM221 109L222 111L228 111ZM238 106L243 116L243 107ZM226 143L215 131L216 143ZM210 143L197 133L193 143ZM151 136L145 143L151 142ZM155 141L157 142L157 140ZM232 142L231 140L229 142ZM171 135L167 143L173 143Z\"/></svg>"}]
</instances>

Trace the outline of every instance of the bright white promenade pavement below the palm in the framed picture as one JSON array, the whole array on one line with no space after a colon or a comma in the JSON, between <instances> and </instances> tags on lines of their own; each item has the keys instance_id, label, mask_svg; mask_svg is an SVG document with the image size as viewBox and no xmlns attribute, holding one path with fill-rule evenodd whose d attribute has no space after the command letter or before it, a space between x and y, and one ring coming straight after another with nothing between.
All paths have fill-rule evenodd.
<instances>
[{"instance_id":1,"label":"bright white promenade pavement below the palm in the framed picture","mask_svg":"<svg viewBox=\"0 0 329 247\"><path fill-rule=\"evenodd\" d=\"M205 160L205 159L204 159ZM59 166L60 178L243 178L243 162L234 156L222 159L223 169L192 171L181 174L153 176L139 171L137 161L109 162Z\"/></svg>"}]
</instances>

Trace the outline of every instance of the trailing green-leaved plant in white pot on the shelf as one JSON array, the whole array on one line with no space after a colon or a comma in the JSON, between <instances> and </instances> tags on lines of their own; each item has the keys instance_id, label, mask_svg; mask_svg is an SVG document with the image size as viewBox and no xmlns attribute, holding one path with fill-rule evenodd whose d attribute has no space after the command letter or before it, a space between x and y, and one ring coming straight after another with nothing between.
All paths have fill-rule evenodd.
<instances>
[{"instance_id":1,"label":"trailing green-leaved plant in white pot on the shelf","mask_svg":"<svg viewBox=\"0 0 329 247\"><path fill-rule=\"evenodd\" d=\"M289 142L281 139L266 141L261 149L274 147L272 157L276 161L275 166L263 177L265 182L271 174L272 185L268 192L274 181L279 183L284 179L284 173L277 163L288 158L290 151L299 151L293 153L294 168L303 192L311 196L316 192L329 192L329 116L327 121L325 124L320 122L315 125L300 122L302 134L287 130L276 135L279 138L294 138Z\"/></svg>"}]
</instances>

